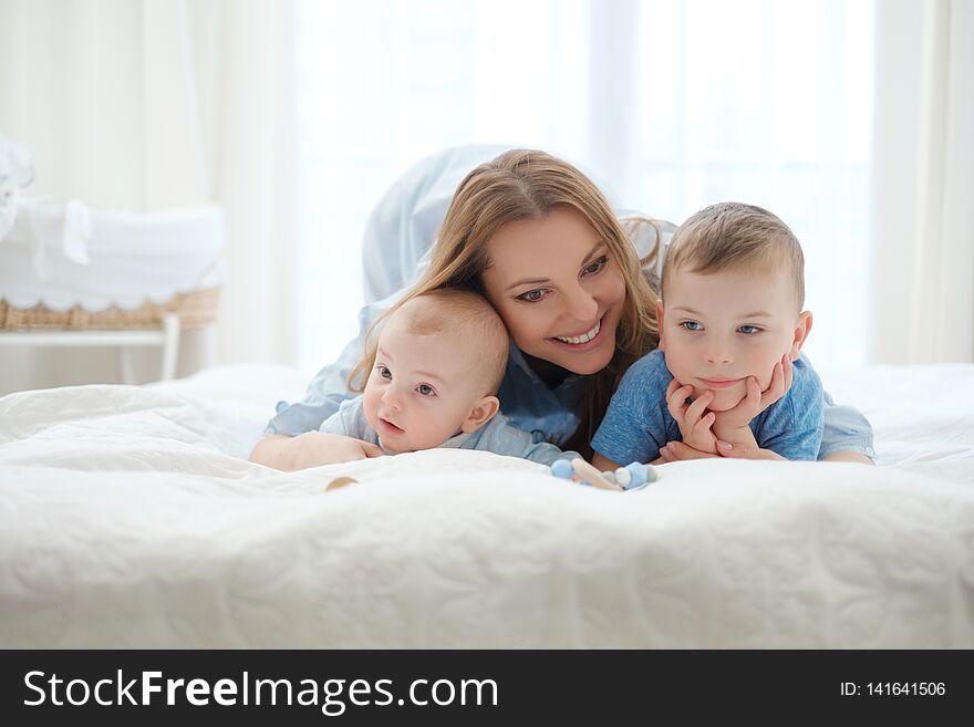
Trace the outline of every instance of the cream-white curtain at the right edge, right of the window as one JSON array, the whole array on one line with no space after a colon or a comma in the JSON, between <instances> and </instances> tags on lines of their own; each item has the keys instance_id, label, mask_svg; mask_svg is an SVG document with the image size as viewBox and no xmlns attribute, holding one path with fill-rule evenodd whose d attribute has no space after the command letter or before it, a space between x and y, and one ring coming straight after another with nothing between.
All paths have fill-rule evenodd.
<instances>
[{"instance_id":1,"label":"cream-white curtain at the right edge, right of the window","mask_svg":"<svg viewBox=\"0 0 974 727\"><path fill-rule=\"evenodd\" d=\"M974 361L974 3L877 3L872 357Z\"/></svg>"}]
</instances>

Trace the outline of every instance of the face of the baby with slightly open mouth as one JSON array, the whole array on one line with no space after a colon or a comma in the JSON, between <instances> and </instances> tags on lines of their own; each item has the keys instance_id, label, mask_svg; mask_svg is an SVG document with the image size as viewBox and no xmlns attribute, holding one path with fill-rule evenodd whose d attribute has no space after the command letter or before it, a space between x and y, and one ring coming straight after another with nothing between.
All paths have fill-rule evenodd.
<instances>
[{"instance_id":1,"label":"face of the baby with slightly open mouth","mask_svg":"<svg viewBox=\"0 0 974 727\"><path fill-rule=\"evenodd\" d=\"M396 315L386 323L363 406L388 451L431 449L460 432L487 394L475 349L467 336L410 333Z\"/></svg>"}]
</instances>

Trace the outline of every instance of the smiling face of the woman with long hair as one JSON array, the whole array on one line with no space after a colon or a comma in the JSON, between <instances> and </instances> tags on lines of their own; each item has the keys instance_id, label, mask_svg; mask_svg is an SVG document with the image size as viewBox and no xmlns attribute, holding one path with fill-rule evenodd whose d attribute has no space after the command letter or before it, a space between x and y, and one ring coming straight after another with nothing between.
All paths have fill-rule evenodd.
<instances>
[{"instance_id":1,"label":"smiling face of the woman with long hair","mask_svg":"<svg viewBox=\"0 0 974 727\"><path fill-rule=\"evenodd\" d=\"M625 280L609 246L578 210L510 222L488 242L487 297L526 354L576 374L615 352Z\"/></svg>"}]
</instances>

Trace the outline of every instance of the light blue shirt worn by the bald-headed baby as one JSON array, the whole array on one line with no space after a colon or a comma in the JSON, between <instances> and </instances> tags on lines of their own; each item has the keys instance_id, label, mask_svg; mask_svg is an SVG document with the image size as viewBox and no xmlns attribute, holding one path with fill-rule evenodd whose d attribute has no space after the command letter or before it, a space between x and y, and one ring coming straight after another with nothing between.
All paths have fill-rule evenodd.
<instances>
[{"instance_id":1,"label":"light blue shirt worn by the bald-headed baby","mask_svg":"<svg viewBox=\"0 0 974 727\"><path fill-rule=\"evenodd\" d=\"M355 396L342 402L339 411L325 419L319 430L325 434L341 434L346 437L362 439L363 442L377 445L383 451L391 454L382 444L379 433L372 428L365 418L362 396ZM530 434L511 426L508 418L502 414L496 415L476 432L457 434L439 446L448 449L493 451L496 455L520 457L521 459L530 459L542 465L550 465L556 459L561 459L562 457L571 459L578 456L574 451L562 451L547 442L535 442Z\"/></svg>"}]
</instances>

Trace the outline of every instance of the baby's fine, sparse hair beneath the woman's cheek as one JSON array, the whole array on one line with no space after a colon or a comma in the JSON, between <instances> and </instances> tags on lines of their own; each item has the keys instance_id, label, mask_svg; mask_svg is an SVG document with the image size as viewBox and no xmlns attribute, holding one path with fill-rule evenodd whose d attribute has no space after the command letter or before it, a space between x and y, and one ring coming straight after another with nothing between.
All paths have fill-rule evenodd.
<instances>
[{"instance_id":1,"label":"baby's fine, sparse hair beneath the woman's cheek","mask_svg":"<svg viewBox=\"0 0 974 727\"><path fill-rule=\"evenodd\" d=\"M484 395L497 393L507 371L510 342L504 321L483 295L441 288L410 299L397 313L406 316L410 333L453 334L465 349L476 351L478 368L470 374L484 376Z\"/></svg>"}]
</instances>

